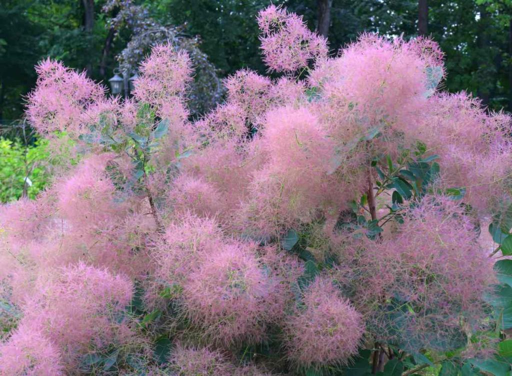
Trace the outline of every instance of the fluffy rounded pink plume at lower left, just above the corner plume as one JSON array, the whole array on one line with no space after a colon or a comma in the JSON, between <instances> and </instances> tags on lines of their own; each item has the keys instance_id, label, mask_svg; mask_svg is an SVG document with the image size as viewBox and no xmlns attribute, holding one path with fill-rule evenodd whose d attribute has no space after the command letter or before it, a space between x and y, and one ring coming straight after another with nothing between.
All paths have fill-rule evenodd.
<instances>
[{"instance_id":1,"label":"fluffy rounded pink plume at lower left, just above the corner plume","mask_svg":"<svg viewBox=\"0 0 512 376\"><path fill-rule=\"evenodd\" d=\"M51 271L36 281L24 304L22 325L41 330L59 346L66 362L89 345L102 347L115 337L116 315L131 301L128 278L84 263Z\"/></svg>"}]
</instances>

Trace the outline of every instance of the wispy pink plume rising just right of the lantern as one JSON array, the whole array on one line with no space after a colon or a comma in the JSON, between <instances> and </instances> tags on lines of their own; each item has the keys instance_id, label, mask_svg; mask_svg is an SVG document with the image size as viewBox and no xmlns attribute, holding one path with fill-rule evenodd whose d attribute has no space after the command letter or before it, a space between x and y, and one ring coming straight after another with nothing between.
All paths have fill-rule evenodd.
<instances>
[{"instance_id":1,"label":"wispy pink plume rising just right of the lantern","mask_svg":"<svg viewBox=\"0 0 512 376\"><path fill-rule=\"evenodd\" d=\"M135 81L134 97L155 107L185 91L191 80L191 61L185 51L169 44L156 45L140 64L141 76Z\"/></svg>"}]
</instances>

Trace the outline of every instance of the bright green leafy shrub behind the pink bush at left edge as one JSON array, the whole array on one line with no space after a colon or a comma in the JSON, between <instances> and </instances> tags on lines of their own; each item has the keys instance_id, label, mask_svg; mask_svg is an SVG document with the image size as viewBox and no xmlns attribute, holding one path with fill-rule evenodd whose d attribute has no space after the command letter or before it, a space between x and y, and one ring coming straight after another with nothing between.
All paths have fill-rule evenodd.
<instances>
[{"instance_id":1,"label":"bright green leafy shrub behind the pink bush at left edge","mask_svg":"<svg viewBox=\"0 0 512 376\"><path fill-rule=\"evenodd\" d=\"M34 198L45 187L50 178L45 167L47 145L44 139L25 146L20 141L0 138L0 202L18 200L24 194Z\"/></svg>"}]
</instances>

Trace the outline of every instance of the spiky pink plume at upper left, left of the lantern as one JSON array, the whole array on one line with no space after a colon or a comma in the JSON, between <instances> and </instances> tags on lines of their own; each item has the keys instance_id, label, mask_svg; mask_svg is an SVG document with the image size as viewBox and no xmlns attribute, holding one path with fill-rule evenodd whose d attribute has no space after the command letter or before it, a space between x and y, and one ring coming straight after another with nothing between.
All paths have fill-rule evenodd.
<instances>
[{"instance_id":1,"label":"spiky pink plume at upper left, left of the lantern","mask_svg":"<svg viewBox=\"0 0 512 376\"><path fill-rule=\"evenodd\" d=\"M40 134L54 131L79 135L86 125L84 113L104 100L104 88L62 63L44 60L36 67L37 86L30 93L27 117Z\"/></svg>"}]
</instances>

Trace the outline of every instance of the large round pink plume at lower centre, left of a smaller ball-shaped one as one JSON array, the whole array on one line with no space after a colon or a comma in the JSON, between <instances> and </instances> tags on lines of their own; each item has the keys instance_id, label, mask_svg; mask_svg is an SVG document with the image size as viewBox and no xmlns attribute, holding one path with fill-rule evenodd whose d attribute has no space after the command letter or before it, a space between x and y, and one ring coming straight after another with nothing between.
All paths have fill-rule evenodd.
<instances>
[{"instance_id":1,"label":"large round pink plume at lower centre, left of a smaller ball-shaped one","mask_svg":"<svg viewBox=\"0 0 512 376\"><path fill-rule=\"evenodd\" d=\"M259 341L265 325L282 315L281 281L265 272L254 245L221 247L183 284L186 314L214 342Z\"/></svg>"}]
</instances>

